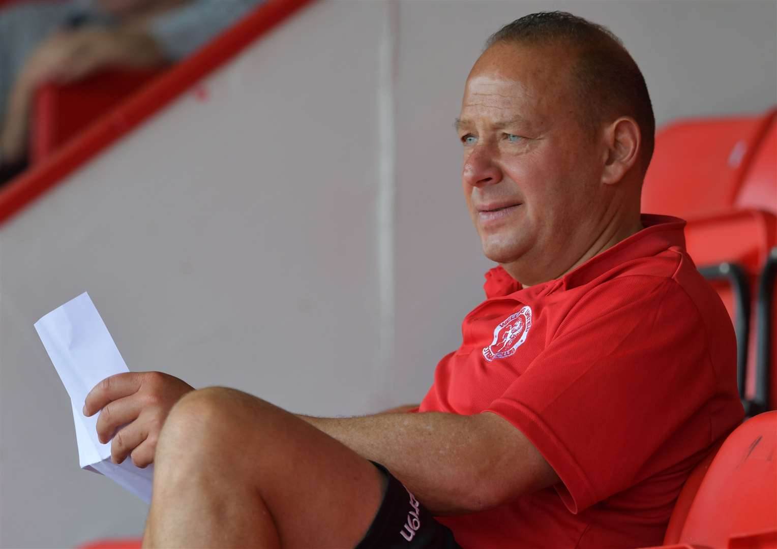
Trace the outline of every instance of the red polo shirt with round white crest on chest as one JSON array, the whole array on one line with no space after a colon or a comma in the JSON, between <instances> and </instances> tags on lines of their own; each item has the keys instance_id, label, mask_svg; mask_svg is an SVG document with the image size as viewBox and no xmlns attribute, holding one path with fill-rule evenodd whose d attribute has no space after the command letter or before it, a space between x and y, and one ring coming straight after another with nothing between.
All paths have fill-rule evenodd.
<instances>
[{"instance_id":1,"label":"red polo shirt with round white crest on chest","mask_svg":"<svg viewBox=\"0 0 777 549\"><path fill-rule=\"evenodd\" d=\"M420 412L501 415L562 482L441 517L465 549L660 544L689 472L741 422L733 328L685 252L685 221L643 226L547 283L486 273Z\"/></svg>"}]
</instances>

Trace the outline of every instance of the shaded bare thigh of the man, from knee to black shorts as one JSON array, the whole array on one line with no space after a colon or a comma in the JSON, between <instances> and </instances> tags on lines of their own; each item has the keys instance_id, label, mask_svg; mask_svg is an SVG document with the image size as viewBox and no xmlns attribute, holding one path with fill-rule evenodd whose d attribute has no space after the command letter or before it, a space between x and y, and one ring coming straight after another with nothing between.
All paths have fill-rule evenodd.
<instances>
[{"instance_id":1,"label":"shaded bare thigh of the man, from knee to black shorts","mask_svg":"<svg viewBox=\"0 0 777 549\"><path fill-rule=\"evenodd\" d=\"M190 397L179 404L193 405L192 417L207 424L207 436L200 440L207 439L215 454L229 454L221 465L256 487L282 547L357 546L387 485L375 465L295 415L242 391L213 387ZM192 402L197 399L199 408Z\"/></svg>"}]
</instances>

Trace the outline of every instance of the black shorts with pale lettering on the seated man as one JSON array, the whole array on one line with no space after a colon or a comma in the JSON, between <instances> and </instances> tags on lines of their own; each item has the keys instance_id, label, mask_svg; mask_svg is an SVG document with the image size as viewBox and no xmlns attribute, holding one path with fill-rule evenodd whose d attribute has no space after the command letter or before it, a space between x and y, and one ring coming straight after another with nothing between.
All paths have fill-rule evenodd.
<instances>
[{"instance_id":1,"label":"black shorts with pale lettering on the seated man","mask_svg":"<svg viewBox=\"0 0 777 549\"><path fill-rule=\"evenodd\" d=\"M389 480L378 513L356 549L462 549L453 532L424 509L381 464L372 462Z\"/></svg>"}]
</instances>

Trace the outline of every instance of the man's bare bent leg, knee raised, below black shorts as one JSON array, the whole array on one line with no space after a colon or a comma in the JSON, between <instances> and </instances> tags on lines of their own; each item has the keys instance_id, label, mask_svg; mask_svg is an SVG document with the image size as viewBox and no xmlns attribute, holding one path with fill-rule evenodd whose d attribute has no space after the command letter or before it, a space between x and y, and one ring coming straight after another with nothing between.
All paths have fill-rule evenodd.
<instances>
[{"instance_id":1,"label":"man's bare bent leg, knee raised, below black shorts","mask_svg":"<svg viewBox=\"0 0 777 549\"><path fill-rule=\"evenodd\" d=\"M385 479L368 460L249 394L184 396L155 455L144 547L354 547Z\"/></svg>"}]
</instances>

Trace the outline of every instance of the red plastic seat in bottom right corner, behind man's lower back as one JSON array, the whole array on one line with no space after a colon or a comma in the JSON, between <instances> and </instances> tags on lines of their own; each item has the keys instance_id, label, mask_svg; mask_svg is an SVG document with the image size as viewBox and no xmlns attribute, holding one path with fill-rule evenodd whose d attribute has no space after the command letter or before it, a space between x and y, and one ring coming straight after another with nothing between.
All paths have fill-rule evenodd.
<instances>
[{"instance_id":1,"label":"red plastic seat in bottom right corner, behind man's lower back","mask_svg":"<svg viewBox=\"0 0 777 549\"><path fill-rule=\"evenodd\" d=\"M667 547L777 547L777 412L748 419L686 481Z\"/></svg>"}]
</instances>

